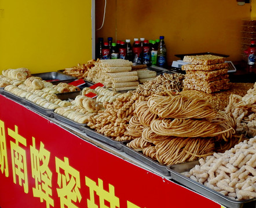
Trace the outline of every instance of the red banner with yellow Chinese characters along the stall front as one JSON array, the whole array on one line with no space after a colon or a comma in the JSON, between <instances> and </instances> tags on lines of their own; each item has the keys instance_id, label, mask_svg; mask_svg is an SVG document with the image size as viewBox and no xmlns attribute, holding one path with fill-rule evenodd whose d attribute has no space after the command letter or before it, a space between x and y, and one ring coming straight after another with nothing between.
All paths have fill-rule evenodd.
<instances>
[{"instance_id":1,"label":"red banner with yellow Chinese characters along the stall front","mask_svg":"<svg viewBox=\"0 0 256 208\"><path fill-rule=\"evenodd\" d=\"M218 207L0 95L0 207Z\"/></svg>"}]
</instances>

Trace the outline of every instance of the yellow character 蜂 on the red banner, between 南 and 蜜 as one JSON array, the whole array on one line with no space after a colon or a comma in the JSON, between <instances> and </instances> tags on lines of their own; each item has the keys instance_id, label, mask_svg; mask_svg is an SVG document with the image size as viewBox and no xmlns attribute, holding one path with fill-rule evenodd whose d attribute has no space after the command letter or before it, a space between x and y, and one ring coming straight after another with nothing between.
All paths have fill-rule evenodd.
<instances>
[{"instance_id":1,"label":"yellow character \u8702 on the red banner, between \u5357 and \u871c","mask_svg":"<svg viewBox=\"0 0 256 208\"><path fill-rule=\"evenodd\" d=\"M52 196L52 172L50 171L49 159L50 152L44 147L45 145L41 142L40 149L35 148L35 138L32 137L33 146L30 146L31 154L31 169L32 177L35 179L35 188L33 188L33 195L39 197L40 201L45 200L46 207L50 205L54 206Z\"/></svg>"}]
</instances>

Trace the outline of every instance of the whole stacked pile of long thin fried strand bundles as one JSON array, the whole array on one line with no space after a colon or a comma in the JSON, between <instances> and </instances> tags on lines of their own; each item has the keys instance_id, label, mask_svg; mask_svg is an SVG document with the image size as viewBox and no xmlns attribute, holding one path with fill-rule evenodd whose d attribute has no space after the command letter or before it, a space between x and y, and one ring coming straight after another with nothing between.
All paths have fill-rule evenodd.
<instances>
[{"instance_id":1,"label":"whole stacked pile of long thin fried strand bundles","mask_svg":"<svg viewBox=\"0 0 256 208\"><path fill-rule=\"evenodd\" d=\"M213 154L214 142L228 142L235 133L232 117L196 97L152 95L136 104L135 113L127 127L133 139L127 146L163 165Z\"/></svg>"}]
</instances>

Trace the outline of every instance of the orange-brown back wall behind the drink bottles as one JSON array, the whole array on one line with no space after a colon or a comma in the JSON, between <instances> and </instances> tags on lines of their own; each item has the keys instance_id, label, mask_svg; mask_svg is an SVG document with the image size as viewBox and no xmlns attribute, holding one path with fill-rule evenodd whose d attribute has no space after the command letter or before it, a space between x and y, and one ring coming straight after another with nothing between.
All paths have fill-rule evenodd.
<instances>
[{"instance_id":1,"label":"orange-brown back wall behind the drink bottles","mask_svg":"<svg viewBox=\"0 0 256 208\"><path fill-rule=\"evenodd\" d=\"M253 0L255 1L255 0ZM96 2L96 29L103 20L104 0ZM156 39L164 35L169 65L174 54L210 51L241 60L241 25L250 18L251 3L235 0L107 1L105 24L96 38ZM96 39L97 40L97 39Z\"/></svg>"}]
</instances>

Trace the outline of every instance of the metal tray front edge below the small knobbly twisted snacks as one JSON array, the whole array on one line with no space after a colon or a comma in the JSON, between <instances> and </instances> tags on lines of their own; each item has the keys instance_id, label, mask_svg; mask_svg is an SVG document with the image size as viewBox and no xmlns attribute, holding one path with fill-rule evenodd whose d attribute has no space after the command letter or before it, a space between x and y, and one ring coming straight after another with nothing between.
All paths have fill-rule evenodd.
<instances>
[{"instance_id":1,"label":"metal tray front edge below the small knobbly twisted snacks","mask_svg":"<svg viewBox=\"0 0 256 208\"><path fill-rule=\"evenodd\" d=\"M105 144L108 144L111 147L114 147L120 151L122 151L123 146L121 145L121 142L115 141L114 139L108 138L107 136L104 136L101 133L98 133L94 131L93 129L90 129L89 127L82 127L85 129L85 133L87 136L90 136L93 139L96 139L100 142L103 142Z\"/></svg>"}]
</instances>

